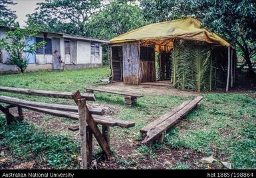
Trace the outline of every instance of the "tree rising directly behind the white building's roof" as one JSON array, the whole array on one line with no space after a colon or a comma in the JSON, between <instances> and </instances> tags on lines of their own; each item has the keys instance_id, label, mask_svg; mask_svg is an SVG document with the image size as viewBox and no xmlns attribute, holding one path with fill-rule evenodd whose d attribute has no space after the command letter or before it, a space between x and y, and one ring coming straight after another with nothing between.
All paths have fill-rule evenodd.
<instances>
[{"instance_id":1,"label":"tree rising directly behind the white building's roof","mask_svg":"<svg viewBox=\"0 0 256 178\"><path fill-rule=\"evenodd\" d=\"M100 0L46 0L38 3L37 11L27 15L28 25L40 30L84 35L85 25L100 8Z\"/></svg>"}]
</instances>

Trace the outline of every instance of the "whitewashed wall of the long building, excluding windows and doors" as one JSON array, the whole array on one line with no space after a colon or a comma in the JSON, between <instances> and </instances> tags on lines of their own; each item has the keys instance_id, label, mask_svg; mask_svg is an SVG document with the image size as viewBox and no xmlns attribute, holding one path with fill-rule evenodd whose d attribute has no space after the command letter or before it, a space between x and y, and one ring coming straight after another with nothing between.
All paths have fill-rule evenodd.
<instances>
[{"instance_id":1,"label":"whitewashed wall of the long building, excluding windows and doors","mask_svg":"<svg viewBox=\"0 0 256 178\"><path fill-rule=\"evenodd\" d=\"M0 39L3 39L6 36L8 29L0 27ZM44 37L43 33L39 33L37 37ZM47 38L59 38L61 39L61 57L65 62L66 69L72 68L87 68L87 67L95 67L102 66L102 46L100 44L100 55L98 57L94 57L90 55L90 42L78 40L76 42L75 39L72 41L75 44L72 46L75 48L73 52L76 54L64 54L64 38L61 35L56 34L47 34ZM71 43L70 43L71 45ZM55 50L53 48L53 50ZM70 46L71 50L71 46ZM25 54L24 54L25 55ZM9 54L2 50L1 60L0 60L0 74L7 73L17 73L17 67L15 65L9 64ZM52 70L53 69L53 54L35 54L35 63L29 64L25 72L35 71L35 70Z\"/></svg>"}]
</instances>

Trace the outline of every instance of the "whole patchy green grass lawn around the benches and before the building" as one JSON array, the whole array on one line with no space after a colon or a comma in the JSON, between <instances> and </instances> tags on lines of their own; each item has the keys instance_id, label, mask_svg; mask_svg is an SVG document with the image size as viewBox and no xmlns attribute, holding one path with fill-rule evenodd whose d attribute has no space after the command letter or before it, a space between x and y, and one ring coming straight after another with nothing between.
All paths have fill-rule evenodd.
<instances>
[{"instance_id":1,"label":"whole patchy green grass lawn around the benches and before the building","mask_svg":"<svg viewBox=\"0 0 256 178\"><path fill-rule=\"evenodd\" d=\"M26 74L1 75L0 85L38 90L84 92L84 86L102 84L100 79L110 75L108 67L63 72L31 72ZM23 96L1 95L74 104L68 100ZM111 96L111 97L110 97ZM134 128L111 128L110 145L114 161L101 159L96 146L94 159L100 169L209 169L223 168L218 162L205 165L202 157L213 155L227 161L235 169L256 168L256 100L248 94L203 94L201 108L193 110L166 136L162 145L140 145L140 128L178 106L193 96L159 96L145 94L133 108L123 106L123 97L96 93L96 104L108 106L114 118L136 123ZM88 102L93 104L95 102ZM25 111L28 112L28 111ZM31 116L32 117L32 116ZM53 124L53 117L39 115L44 124ZM74 121L61 118L61 122ZM79 140L65 132L32 124L29 120L5 126L0 114L0 169L9 167L78 169ZM48 125L47 125L48 126ZM94 167L95 169L95 167Z\"/></svg>"}]
</instances>

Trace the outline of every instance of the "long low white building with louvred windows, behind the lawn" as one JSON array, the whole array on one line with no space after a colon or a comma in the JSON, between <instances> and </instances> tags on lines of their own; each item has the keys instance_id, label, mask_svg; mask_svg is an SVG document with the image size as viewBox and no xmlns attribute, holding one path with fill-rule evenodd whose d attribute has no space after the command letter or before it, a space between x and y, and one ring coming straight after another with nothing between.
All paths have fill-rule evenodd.
<instances>
[{"instance_id":1,"label":"long low white building with louvred windows, behind the lawn","mask_svg":"<svg viewBox=\"0 0 256 178\"><path fill-rule=\"evenodd\" d=\"M10 29L0 26L0 39L3 39ZM60 59L64 68L89 68L102 66L102 44L108 41L41 31L37 37L27 39L29 43L45 41L35 54L26 54L29 65L26 72L35 70L59 70ZM1 49L0 49L1 50ZM9 55L5 50L0 51L0 74L18 72L17 67L9 63Z\"/></svg>"}]
</instances>

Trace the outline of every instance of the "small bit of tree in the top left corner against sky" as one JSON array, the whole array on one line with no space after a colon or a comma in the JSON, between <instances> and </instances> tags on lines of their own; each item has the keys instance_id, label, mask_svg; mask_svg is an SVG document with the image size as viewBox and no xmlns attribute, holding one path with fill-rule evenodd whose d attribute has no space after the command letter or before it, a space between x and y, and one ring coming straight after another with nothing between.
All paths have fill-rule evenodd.
<instances>
[{"instance_id":1,"label":"small bit of tree in the top left corner against sky","mask_svg":"<svg viewBox=\"0 0 256 178\"><path fill-rule=\"evenodd\" d=\"M7 8L7 5L15 5L11 0L0 0L0 25L13 25L17 16L14 11Z\"/></svg>"}]
</instances>

